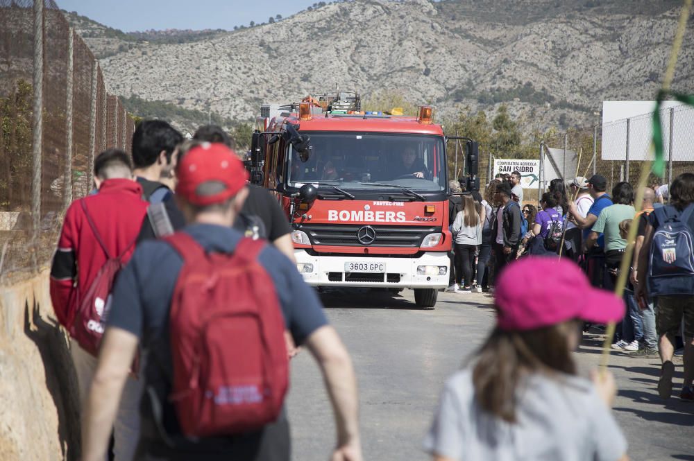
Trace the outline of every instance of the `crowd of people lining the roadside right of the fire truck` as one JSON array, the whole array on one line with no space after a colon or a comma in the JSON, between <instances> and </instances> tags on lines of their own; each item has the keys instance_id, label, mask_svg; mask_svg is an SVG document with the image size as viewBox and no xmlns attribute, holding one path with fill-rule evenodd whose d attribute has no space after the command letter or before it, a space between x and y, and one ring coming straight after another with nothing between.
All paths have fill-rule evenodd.
<instances>
[{"instance_id":1,"label":"crowd of people lining the roadside right of the fire truck","mask_svg":"<svg viewBox=\"0 0 694 461\"><path fill-rule=\"evenodd\" d=\"M686 277L686 269L673 269L672 274L651 277L682 285L682 293L663 290L655 296L647 288L654 252L652 236L656 229L673 218L694 229L694 220L688 220L686 212L694 202L694 174L679 175L672 186L654 183L645 187L638 210L634 209L636 194L629 182L618 182L608 192L607 179L602 175L587 179L575 177L568 184L561 179L552 180L548 191L541 195L539 207L535 207L523 204L522 192L518 193L519 178L517 171L497 175L486 185L486 200L479 193L463 192L457 182L450 184L453 191L449 203L453 223L450 230L455 245L448 291L493 293L494 275L500 274L511 261L527 256L568 259L584 270L592 286L614 290L627 245L634 245L623 296L627 311L618 322L611 347L632 357L660 357L659 394L663 399L672 393L672 356L678 351L684 355L685 364L680 397L694 400L694 348L691 347L694 313L689 304L694 300L694 290L686 288L686 281L677 278ZM662 216L654 213L657 208L661 208ZM638 226L638 230L635 240L629 243L632 225ZM484 229L491 232L485 233ZM694 277L691 243L686 247L686 238L683 242L684 247L665 252L663 257L668 258L670 254L673 261L686 260L685 266L691 268L688 275ZM489 248L493 259L489 258ZM588 329L590 324L586 323L585 327Z\"/></svg>"}]
</instances>

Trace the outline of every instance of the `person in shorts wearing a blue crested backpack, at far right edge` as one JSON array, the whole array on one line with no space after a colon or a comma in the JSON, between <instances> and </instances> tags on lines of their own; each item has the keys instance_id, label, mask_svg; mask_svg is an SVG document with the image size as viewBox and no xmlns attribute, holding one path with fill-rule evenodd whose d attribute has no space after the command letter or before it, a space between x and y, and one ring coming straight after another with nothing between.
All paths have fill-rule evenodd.
<instances>
[{"instance_id":1,"label":"person in shorts wearing a blue crested backpack, at far right edge","mask_svg":"<svg viewBox=\"0 0 694 461\"><path fill-rule=\"evenodd\" d=\"M654 248L654 234L656 229L663 224L665 219L673 216L688 214L684 219L689 232L694 229L694 173L682 173L675 177L668 188L670 193L670 204L662 207L662 214L659 217L660 209L656 209L648 217L648 225L645 228L643 246L638 254L638 268L641 269L638 275L638 288L636 297L641 299L641 304L648 302L649 293L653 297L653 287L648 288L649 275L643 273L643 268L649 267L649 260L658 248ZM658 211L658 213L656 212ZM677 251L669 254L677 261ZM682 248L684 250L684 248ZM690 254L691 256L691 254ZM680 256L682 257L682 256ZM672 260L672 259L671 259ZM679 272L679 271L678 271ZM668 277L669 278L669 277ZM679 397L686 401L694 401L694 288L688 280L691 275L684 274L681 277L671 279L670 284L677 286L677 295L658 295L657 296L657 331L659 336L659 354L661 359L661 376L658 381L658 393L661 399L669 399L672 394L672 376L675 374L675 365L672 357L675 355L675 336L681 326L684 327L684 381ZM684 324L684 325L683 325Z\"/></svg>"}]
</instances>

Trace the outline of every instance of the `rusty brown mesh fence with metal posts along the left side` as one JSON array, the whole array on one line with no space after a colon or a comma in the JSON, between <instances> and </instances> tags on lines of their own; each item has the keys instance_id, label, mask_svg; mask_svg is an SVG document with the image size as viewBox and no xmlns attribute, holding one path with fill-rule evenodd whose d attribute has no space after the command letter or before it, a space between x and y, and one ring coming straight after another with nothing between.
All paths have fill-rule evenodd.
<instances>
[{"instance_id":1,"label":"rusty brown mesh fence with metal posts along the left side","mask_svg":"<svg viewBox=\"0 0 694 461\"><path fill-rule=\"evenodd\" d=\"M0 0L0 281L47 266L94 155L134 123L53 0Z\"/></svg>"}]
</instances>

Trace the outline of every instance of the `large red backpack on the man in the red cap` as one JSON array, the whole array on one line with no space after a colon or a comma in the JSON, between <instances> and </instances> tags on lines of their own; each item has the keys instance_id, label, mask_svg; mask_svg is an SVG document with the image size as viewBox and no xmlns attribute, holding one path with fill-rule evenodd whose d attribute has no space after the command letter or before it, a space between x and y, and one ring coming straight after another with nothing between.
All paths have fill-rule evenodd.
<instances>
[{"instance_id":1,"label":"large red backpack on the man in the red cap","mask_svg":"<svg viewBox=\"0 0 694 461\"><path fill-rule=\"evenodd\" d=\"M289 385L285 321L273 281L257 261L264 241L233 254L205 252L177 232L183 257L169 318L176 406L192 437L244 433L275 421Z\"/></svg>"}]
</instances>

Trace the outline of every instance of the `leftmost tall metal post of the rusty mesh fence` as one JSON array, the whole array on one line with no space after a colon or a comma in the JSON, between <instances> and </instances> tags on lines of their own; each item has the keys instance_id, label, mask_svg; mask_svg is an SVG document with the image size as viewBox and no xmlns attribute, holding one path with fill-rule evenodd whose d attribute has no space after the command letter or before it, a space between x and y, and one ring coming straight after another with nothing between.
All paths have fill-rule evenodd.
<instances>
[{"instance_id":1,"label":"leftmost tall metal post of the rusty mesh fence","mask_svg":"<svg viewBox=\"0 0 694 461\"><path fill-rule=\"evenodd\" d=\"M38 237L41 229L41 160L43 151L43 13L44 2L34 1L34 57L33 57L33 117L31 121L32 163L31 177L31 218L33 223L32 259L37 269Z\"/></svg>"}]
</instances>

